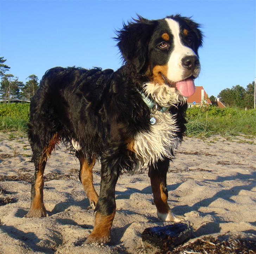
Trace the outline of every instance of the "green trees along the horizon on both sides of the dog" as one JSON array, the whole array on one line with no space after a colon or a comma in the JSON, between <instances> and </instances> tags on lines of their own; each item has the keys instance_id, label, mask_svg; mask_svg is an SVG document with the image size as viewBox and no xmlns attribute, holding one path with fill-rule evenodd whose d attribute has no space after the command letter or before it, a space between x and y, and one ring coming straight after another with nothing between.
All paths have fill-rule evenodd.
<instances>
[{"instance_id":1,"label":"green trees along the horizon on both sides of the dog","mask_svg":"<svg viewBox=\"0 0 256 254\"><path fill-rule=\"evenodd\" d=\"M34 74L27 77L24 84L12 74L6 74L10 67L4 64L6 59L0 57L0 97L5 101L9 99L25 99L30 101L39 87L38 77ZM235 85L232 88L226 88L218 94L220 101L226 107L253 108L254 107L254 81L247 85L247 88L241 85ZM214 101L215 96L210 96Z\"/></svg>"}]
</instances>

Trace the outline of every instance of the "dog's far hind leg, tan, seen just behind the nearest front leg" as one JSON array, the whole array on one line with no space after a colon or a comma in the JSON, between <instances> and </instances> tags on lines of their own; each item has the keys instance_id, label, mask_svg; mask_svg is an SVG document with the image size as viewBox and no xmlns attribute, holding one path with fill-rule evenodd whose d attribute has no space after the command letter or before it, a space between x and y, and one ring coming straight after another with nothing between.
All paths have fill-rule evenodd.
<instances>
[{"instance_id":1,"label":"dog's far hind leg, tan, seen just behind the nearest front leg","mask_svg":"<svg viewBox=\"0 0 256 254\"><path fill-rule=\"evenodd\" d=\"M83 184L85 194L89 198L90 206L94 209L98 202L98 194L93 186L92 168L95 165L95 158L91 163L84 158L81 151L77 151L77 157L80 162L79 180Z\"/></svg>"}]
</instances>

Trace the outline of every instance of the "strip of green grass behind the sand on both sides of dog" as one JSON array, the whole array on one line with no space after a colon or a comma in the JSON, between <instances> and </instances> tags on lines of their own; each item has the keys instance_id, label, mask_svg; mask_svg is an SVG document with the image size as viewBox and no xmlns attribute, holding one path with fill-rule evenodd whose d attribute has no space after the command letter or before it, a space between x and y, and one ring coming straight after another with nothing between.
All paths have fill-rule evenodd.
<instances>
[{"instance_id":1,"label":"strip of green grass behind the sand on both sides of dog","mask_svg":"<svg viewBox=\"0 0 256 254\"><path fill-rule=\"evenodd\" d=\"M0 130L26 132L30 104L0 104ZM216 107L191 108L187 110L187 131L189 137L211 135L256 136L256 110ZM11 138L11 137L10 137Z\"/></svg>"}]
</instances>

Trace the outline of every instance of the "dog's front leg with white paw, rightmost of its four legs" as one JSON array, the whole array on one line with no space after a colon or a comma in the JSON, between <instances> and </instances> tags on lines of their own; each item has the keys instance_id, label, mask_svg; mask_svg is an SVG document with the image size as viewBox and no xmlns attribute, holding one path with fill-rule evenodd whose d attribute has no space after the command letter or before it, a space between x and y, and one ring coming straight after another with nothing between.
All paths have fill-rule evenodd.
<instances>
[{"instance_id":1,"label":"dog's front leg with white paw, rightmost of its four legs","mask_svg":"<svg viewBox=\"0 0 256 254\"><path fill-rule=\"evenodd\" d=\"M159 160L155 165L149 167L148 176L150 177L154 203L157 209L158 218L162 221L179 222L183 219L174 215L167 203L168 190L166 187L166 174L169 167L169 159Z\"/></svg>"}]
</instances>

